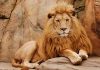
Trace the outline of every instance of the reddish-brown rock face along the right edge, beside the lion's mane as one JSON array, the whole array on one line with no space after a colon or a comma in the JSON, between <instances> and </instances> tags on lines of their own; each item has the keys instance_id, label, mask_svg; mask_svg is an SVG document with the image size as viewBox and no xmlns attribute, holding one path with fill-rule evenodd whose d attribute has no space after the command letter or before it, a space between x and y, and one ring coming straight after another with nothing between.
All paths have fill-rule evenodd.
<instances>
[{"instance_id":1,"label":"reddish-brown rock face along the right edge, beside the lion's mane","mask_svg":"<svg viewBox=\"0 0 100 70\"><path fill-rule=\"evenodd\" d=\"M93 52L100 56L100 0L86 0L85 28L93 44Z\"/></svg>"}]
</instances>

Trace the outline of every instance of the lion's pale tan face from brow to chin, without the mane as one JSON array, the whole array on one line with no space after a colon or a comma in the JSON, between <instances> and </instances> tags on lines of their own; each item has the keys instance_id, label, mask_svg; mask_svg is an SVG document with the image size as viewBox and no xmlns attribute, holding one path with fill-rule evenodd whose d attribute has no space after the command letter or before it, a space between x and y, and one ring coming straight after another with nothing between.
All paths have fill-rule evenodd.
<instances>
[{"instance_id":1,"label":"lion's pale tan face from brow to chin, without the mane","mask_svg":"<svg viewBox=\"0 0 100 70\"><path fill-rule=\"evenodd\" d=\"M59 36L68 36L71 29L71 19L66 13L56 14L54 18L54 31Z\"/></svg>"}]
</instances>

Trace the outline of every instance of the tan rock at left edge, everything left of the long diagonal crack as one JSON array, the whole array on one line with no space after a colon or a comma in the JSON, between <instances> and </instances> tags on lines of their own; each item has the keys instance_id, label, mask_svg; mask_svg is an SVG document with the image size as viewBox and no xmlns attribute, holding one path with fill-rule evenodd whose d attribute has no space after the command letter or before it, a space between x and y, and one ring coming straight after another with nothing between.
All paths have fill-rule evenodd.
<instances>
[{"instance_id":1,"label":"tan rock at left edge, everything left of the long diagonal crack","mask_svg":"<svg viewBox=\"0 0 100 70\"><path fill-rule=\"evenodd\" d=\"M14 9L14 6L16 4L16 0L0 0L0 60L3 59L3 56L1 55L4 48L2 47L2 38L4 36L4 31L9 23L11 13ZM7 49L5 50L7 51Z\"/></svg>"}]
</instances>

